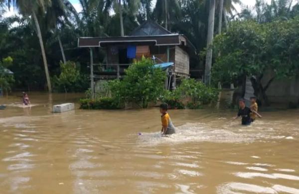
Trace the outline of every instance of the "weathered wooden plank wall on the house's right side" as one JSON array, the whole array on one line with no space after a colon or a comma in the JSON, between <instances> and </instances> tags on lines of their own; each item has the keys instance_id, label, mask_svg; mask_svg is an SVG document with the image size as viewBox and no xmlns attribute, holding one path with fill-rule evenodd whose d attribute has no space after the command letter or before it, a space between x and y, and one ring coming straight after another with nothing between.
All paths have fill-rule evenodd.
<instances>
[{"instance_id":1,"label":"weathered wooden plank wall on the house's right side","mask_svg":"<svg viewBox=\"0 0 299 194\"><path fill-rule=\"evenodd\" d=\"M186 51L175 46L175 73L178 75L189 75L190 59Z\"/></svg>"}]
</instances>

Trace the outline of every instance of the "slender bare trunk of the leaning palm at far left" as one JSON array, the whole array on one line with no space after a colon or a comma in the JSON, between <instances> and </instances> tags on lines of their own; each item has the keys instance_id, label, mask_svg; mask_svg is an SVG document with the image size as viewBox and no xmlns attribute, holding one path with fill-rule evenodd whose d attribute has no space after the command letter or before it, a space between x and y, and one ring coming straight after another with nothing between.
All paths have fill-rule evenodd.
<instances>
[{"instance_id":1,"label":"slender bare trunk of the leaning palm at far left","mask_svg":"<svg viewBox=\"0 0 299 194\"><path fill-rule=\"evenodd\" d=\"M43 41L42 41L42 36L41 36L41 32L40 32L39 23L38 23L36 14L33 10L32 10L32 17L34 19L34 23L35 23L35 27L36 27L36 33L37 33L37 36L38 36L38 39L39 39L39 45L40 45L40 49L41 49L41 55L42 55L43 64L44 64L44 68L45 68L46 79L47 79L48 91L49 91L49 93L52 93L51 80L50 80L50 75L49 75L49 70L48 70L48 63L47 63L47 59L46 59L45 48L44 48Z\"/></svg>"}]
</instances>

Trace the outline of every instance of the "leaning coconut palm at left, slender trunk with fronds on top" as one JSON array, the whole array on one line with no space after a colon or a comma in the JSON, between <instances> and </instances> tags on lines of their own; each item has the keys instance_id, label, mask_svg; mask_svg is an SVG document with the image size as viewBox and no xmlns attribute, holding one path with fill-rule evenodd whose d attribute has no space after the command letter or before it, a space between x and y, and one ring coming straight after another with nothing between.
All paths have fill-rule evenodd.
<instances>
[{"instance_id":1,"label":"leaning coconut palm at left, slender trunk with fronds on top","mask_svg":"<svg viewBox=\"0 0 299 194\"><path fill-rule=\"evenodd\" d=\"M7 3L8 3L8 7L12 5L13 7L18 9L20 14L22 14L23 16L31 16L31 18L33 19L36 27L36 34L38 36L38 40L40 44L41 55L43 59L46 80L48 85L48 92L52 93L48 63L47 63L46 53L45 53L44 44L42 40L42 34L40 31L40 26L37 18L38 13L44 14L45 9L48 6L51 6L51 0L7 0Z\"/></svg>"}]
</instances>

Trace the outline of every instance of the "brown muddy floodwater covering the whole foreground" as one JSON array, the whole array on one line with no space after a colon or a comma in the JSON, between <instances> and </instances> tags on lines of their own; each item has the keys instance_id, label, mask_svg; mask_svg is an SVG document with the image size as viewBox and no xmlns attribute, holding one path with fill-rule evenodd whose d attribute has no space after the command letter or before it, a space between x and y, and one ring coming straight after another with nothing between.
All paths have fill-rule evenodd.
<instances>
[{"instance_id":1,"label":"brown muddy floodwater covering the whole foreground","mask_svg":"<svg viewBox=\"0 0 299 194\"><path fill-rule=\"evenodd\" d=\"M0 99L1 194L299 194L299 110L245 127L224 108L170 110L177 133L162 138L157 108L53 114L30 99Z\"/></svg>"}]
</instances>

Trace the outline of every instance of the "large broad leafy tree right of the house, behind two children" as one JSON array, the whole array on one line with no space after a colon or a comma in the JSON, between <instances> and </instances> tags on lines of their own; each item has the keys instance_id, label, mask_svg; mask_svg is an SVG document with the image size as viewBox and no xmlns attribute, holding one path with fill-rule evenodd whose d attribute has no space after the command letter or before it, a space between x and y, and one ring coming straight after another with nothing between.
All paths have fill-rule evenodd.
<instances>
[{"instance_id":1,"label":"large broad leafy tree right of the house, behind two children","mask_svg":"<svg viewBox=\"0 0 299 194\"><path fill-rule=\"evenodd\" d=\"M274 79L291 79L299 73L299 17L270 23L235 21L214 41L221 56L213 66L217 83L252 80L255 95L267 103L266 90ZM265 74L272 77L263 85Z\"/></svg>"}]
</instances>

